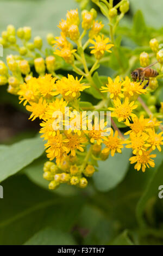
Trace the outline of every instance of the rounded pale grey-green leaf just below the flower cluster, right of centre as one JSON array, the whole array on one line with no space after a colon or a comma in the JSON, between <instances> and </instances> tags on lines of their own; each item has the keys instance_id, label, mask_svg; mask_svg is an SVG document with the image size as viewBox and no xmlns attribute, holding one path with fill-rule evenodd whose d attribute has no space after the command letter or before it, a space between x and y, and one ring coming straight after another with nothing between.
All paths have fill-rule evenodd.
<instances>
[{"instance_id":1,"label":"rounded pale grey-green leaf just below the flower cluster, right of centre","mask_svg":"<svg viewBox=\"0 0 163 256\"><path fill-rule=\"evenodd\" d=\"M99 161L99 172L93 175L95 186L99 191L109 191L124 178L129 166L131 150L123 148L122 154L111 155L106 161Z\"/></svg>"}]
</instances>

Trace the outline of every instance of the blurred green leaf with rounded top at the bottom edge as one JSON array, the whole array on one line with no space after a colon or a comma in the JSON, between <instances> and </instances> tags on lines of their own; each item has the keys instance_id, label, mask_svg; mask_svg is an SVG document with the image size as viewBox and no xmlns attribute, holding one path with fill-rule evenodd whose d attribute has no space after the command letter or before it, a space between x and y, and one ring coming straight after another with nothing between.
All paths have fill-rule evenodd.
<instances>
[{"instance_id":1,"label":"blurred green leaf with rounded top at the bottom edge","mask_svg":"<svg viewBox=\"0 0 163 256\"><path fill-rule=\"evenodd\" d=\"M46 228L36 233L24 245L76 245L76 242L68 233Z\"/></svg>"}]
</instances>

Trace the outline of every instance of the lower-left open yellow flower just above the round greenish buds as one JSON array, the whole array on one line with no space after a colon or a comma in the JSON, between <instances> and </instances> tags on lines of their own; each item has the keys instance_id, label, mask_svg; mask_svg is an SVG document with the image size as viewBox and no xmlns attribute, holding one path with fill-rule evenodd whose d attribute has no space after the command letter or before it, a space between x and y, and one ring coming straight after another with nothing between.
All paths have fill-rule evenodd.
<instances>
[{"instance_id":1,"label":"lower-left open yellow flower just above the round greenish buds","mask_svg":"<svg viewBox=\"0 0 163 256\"><path fill-rule=\"evenodd\" d=\"M47 157L50 160L53 160L55 157L57 158L57 164L61 160L61 155L66 152L68 153L68 149L65 144L68 142L68 139L64 139L60 131L57 131L57 134L54 137L48 139L48 142L45 144L45 147L48 148L46 150Z\"/></svg>"}]
</instances>

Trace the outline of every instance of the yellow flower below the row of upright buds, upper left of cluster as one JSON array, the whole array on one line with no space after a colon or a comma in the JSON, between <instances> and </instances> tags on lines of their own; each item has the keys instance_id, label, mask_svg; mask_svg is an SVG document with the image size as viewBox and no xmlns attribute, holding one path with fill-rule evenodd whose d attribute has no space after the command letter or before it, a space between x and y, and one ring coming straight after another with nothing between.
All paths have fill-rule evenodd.
<instances>
[{"instance_id":1,"label":"yellow flower below the row of upright buds, upper left of cluster","mask_svg":"<svg viewBox=\"0 0 163 256\"><path fill-rule=\"evenodd\" d=\"M46 74L45 76L37 78L37 83L39 84L39 91L43 97L51 97L53 95L55 87L56 78L52 77L51 74Z\"/></svg>"}]
</instances>

